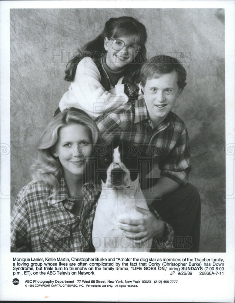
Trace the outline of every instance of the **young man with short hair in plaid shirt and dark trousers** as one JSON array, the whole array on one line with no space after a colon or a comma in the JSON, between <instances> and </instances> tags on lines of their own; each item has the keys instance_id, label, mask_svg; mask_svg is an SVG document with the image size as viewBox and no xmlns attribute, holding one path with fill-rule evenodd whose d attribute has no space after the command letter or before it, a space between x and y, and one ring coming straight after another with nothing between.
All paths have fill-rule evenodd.
<instances>
[{"instance_id":1,"label":"young man with short hair in plaid shirt and dark trousers","mask_svg":"<svg viewBox=\"0 0 235 303\"><path fill-rule=\"evenodd\" d=\"M102 115L97 125L106 142L132 142L148 158L151 156L152 167L158 164L160 178L142 178L147 202L172 226L174 251L196 252L200 238L200 196L187 183L191 168L186 126L171 112L185 85L186 71L177 59L153 57L141 70L143 95L135 104L129 102ZM138 227L132 220L122 223L129 224L128 228L121 228L136 232L136 238L141 237L140 230L148 228ZM154 226L154 222L150 225Z\"/></svg>"}]
</instances>

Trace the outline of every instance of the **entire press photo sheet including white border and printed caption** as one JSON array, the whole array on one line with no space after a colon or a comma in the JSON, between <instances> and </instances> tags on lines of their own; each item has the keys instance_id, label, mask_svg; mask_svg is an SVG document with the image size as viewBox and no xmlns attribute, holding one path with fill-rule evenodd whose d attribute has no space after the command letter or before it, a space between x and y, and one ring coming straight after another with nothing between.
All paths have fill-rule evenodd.
<instances>
[{"instance_id":1,"label":"entire press photo sheet including white border and printed caption","mask_svg":"<svg viewBox=\"0 0 235 303\"><path fill-rule=\"evenodd\" d=\"M183 287L182 279L220 284L234 255L234 55L226 57L234 50L234 37L226 38L234 2L183 7L176 1L179 6L169 8L166 1L81 2L42 1L34 8L22 1L8 9L8 65L1 57L9 67L5 74L1 69L1 91L6 83L9 88L8 100L1 92L1 258L7 254L11 267L15 261L9 276L32 291L30 285L57 277L49 272L67 271L73 277L61 280L75 286L85 278L80 290L89 292L88 281L99 281L103 265L100 280L110 285L108 274L126 287L125 275L136 270L138 294L151 289L141 283L181 283L167 284L169 290ZM83 258L93 258L96 269L81 273L72 261ZM115 270L118 259L126 261L123 271ZM65 267L46 261L65 261ZM39 275L30 276L30 264ZM157 270L167 271L168 282ZM189 277L180 276L183 271ZM27 282L35 275L34 284ZM110 291L121 291L119 282ZM121 289L113 301L174 298ZM100 300L110 300L106 291ZM203 291L195 297L188 289L182 300L201 301ZM205 302L223 302L220 291ZM35 300L58 298L52 293Z\"/></svg>"}]
</instances>

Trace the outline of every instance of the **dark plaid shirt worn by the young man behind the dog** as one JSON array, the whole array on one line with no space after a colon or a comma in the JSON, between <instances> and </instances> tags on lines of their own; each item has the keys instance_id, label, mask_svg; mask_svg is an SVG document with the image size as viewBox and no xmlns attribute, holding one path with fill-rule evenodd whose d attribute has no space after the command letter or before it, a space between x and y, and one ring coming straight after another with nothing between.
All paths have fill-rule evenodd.
<instances>
[{"instance_id":1,"label":"dark plaid shirt worn by the young man behind the dog","mask_svg":"<svg viewBox=\"0 0 235 303\"><path fill-rule=\"evenodd\" d=\"M96 120L106 142L136 144L151 158L150 170L158 164L161 176L186 184L191 170L189 139L185 124L176 114L170 112L153 129L142 96L134 104L123 104Z\"/></svg>"}]
</instances>

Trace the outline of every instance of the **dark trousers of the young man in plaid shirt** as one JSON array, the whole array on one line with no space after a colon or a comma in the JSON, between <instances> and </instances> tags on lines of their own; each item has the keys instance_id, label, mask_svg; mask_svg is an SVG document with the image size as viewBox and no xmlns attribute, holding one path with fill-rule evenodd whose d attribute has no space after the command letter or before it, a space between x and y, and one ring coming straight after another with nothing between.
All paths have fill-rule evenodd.
<instances>
[{"instance_id":1,"label":"dark trousers of the young man in plaid shirt","mask_svg":"<svg viewBox=\"0 0 235 303\"><path fill-rule=\"evenodd\" d=\"M146 179L145 188L156 179ZM151 206L174 230L174 252L198 252L200 242L201 201L195 186L181 185L169 194L157 198Z\"/></svg>"}]
</instances>

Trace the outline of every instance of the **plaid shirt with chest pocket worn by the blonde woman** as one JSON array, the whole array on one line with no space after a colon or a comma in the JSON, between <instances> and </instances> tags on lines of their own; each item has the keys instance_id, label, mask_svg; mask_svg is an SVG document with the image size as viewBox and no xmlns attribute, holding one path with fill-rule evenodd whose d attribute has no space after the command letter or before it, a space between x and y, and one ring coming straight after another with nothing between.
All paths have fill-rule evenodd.
<instances>
[{"instance_id":1,"label":"plaid shirt with chest pocket worn by the blonde woman","mask_svg":"<svg viewBox=\"0 0 235 303\"><path fill-rule=\"evenodd\" d=\"M91 248L92 222L101 193L100 185L83 185L83 202L79 216L70 210L74 199L69 198L63 178L61 188L52 197L52 190L43 182L31 181L19 192L11 218L11 250L13 252L88 252ZM151 208L151 207L150 207ZM161 219L156 211L156 218ZM173 229L165 223L164 245L155 241L157 251L173 249Z\"/></svg>"}]
</instances>

